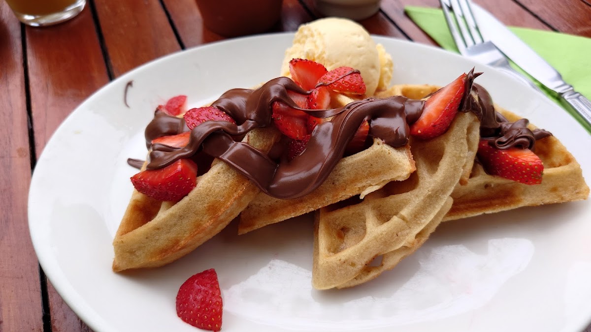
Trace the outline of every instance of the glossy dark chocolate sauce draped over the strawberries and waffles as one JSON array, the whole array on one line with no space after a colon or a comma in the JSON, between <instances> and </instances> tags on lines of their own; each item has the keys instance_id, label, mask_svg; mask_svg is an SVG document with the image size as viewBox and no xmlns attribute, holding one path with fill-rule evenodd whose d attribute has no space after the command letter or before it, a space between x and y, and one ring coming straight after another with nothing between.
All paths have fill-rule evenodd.
<instances>
[{"instance_id":1,"label":"glossy dark chocolate sauce draped over the strawberries and waffles","mask_svg":"<svg viewBox=\"0 0 591 332\"><path fill-rule=\"evenodd\" d=\"M479 74L473 73L473 69L467 74L460 111L474 112L478 116L482 138L491 139L491 144L499 148L533 148L535 139L551 135L540 129L530 131L525 119L511 123L495 112L488 92L473 84ZM401 147L408 143L409 125L420 118L424 107L423 100L392 96L358 100L337 109L309 110L299 108L289 97L288 90L310 93L287 77L270 80L256 90L232 89L223 93L211 106L227 113L236 123L203 122L191 130L189 144L183 148L151 144L155 138L189 131L183 118L166 115L157 109L145 130L146 145L152 150L147 169L163 168L180 158L204 152L228 163L269 196L297 198L310 193L326 180L364 120L369 122L370 136L380 138L392 147ZM288 162L276 162L258 149L237 141L252 129L271 125L274 102L285 103L317 118L333 117L331 121L317 125L306 149ZM272 152L272 155L278 155L278 152Z\"/></svg>"}]
</instances>

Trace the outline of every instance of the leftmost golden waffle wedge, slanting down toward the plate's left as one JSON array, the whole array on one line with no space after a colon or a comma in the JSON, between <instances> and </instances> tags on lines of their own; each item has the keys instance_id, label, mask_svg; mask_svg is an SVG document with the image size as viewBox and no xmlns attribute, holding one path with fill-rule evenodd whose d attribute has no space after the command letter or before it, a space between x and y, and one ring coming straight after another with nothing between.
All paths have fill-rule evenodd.
<instances>
[{"instance_id":1,"label":"leftmost golden waffle wedge, slanting down toward the plate's left","mask_svg":"<svg viewBox=\"0 0 591 332\"><path fill-rule=\"evenodd\" d=\"M268 152L278 137L274 128L255 129L243 142ZM258 193L248 178L217 160L177 203L154 200L134 190L113 240L113 271L175 261L219 233Z\"/></svg>"}]
</instances>

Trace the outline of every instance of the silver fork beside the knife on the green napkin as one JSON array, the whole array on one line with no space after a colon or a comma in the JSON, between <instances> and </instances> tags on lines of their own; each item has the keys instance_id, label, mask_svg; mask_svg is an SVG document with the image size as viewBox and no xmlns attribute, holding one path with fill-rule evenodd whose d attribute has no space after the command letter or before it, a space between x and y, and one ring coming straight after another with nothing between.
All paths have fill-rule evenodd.
<instances>
[{"instance_id":1,"label":"silver fork beside the knife on the green napkin","mask_svg":"<svg viewBox=\"0 0 591 332\"><path fill-rule=\"evenodd\" d=\"M534 83L509 65L505 55L492 41L485 41L482 38L469 0L439 0L439 2L460 54L478 63L495 67L541 92Z\"/></svg>"}]
</instances>

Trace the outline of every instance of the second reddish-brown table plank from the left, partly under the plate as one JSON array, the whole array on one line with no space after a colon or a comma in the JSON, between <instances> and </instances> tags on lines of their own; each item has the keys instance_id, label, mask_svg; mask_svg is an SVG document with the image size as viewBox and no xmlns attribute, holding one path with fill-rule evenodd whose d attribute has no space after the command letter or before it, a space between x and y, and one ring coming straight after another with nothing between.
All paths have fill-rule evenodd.
<instances>
[{"instance_id":1,"label":"second reddish-brown table plank from the left, partly under the plate","mask_svg":"<svg viewBox=\"0 0 591 332\"><path fill-rule=\"evenodd\" d=\"M37 156L76 106L109 82L89 8L63 24L26 28ZM51 330L90 331L47 282Z\"/></svg>"}]
</instances>

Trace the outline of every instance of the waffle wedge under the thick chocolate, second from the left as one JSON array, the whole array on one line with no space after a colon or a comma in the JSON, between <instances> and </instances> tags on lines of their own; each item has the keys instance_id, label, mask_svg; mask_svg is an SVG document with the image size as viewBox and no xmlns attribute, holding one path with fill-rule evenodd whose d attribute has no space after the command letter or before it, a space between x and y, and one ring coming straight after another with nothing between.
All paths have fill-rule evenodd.
<instances>
[{"instance_id":1,"label":"waffle wedge under the thick chocolate, second from the left","mask_svg":"<svg viewBox=\"0 0 591 332\"><path fill-rule=\"evenodd\" d=\"M331 107L353 102L340 93L332 93ZM238 234L244 234L278 223L291 217L320 209L320 207L365 194L381 188L390 181L407 179L415 171L410 147L392 148L380 139L358 154L343 158L319 188L304 197L281 200L259 193L240 214Z\"/></svg>"}]
</instances>

